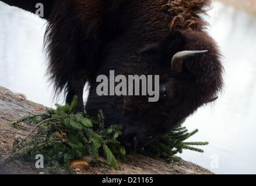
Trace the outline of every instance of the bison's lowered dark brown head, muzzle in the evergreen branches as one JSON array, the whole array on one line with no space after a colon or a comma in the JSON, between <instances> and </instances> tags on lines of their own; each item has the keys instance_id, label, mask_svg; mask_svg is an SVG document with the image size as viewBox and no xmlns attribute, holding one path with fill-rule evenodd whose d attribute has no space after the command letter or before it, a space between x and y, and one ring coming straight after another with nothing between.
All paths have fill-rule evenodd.
<instances>
[{"instance_id":1,"label":"bison's lowered dark brown head, muzzle in the evergreen branches","mask_svg":"<svg viewBox=\"0 0 256 186\"><path fill-rule=\"evenodd\" d=\"M168 133L199 106L214 101L222 87L218 48L204 31L173 30L159 42L135 43L125 37L110 42L97 75L108 76L110 70L159 75L159 101L141 95L99 96L94 83L86 104L90 115L102 109L106 124L122 124L120 141L131 149Z\"/></svg>"}]
</instances>

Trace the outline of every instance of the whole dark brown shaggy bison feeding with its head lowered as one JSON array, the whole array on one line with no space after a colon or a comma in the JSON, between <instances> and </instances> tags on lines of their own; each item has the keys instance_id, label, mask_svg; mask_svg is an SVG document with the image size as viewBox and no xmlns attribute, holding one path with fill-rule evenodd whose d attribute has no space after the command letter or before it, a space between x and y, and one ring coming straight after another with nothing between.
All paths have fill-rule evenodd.
<instances>
[{"instance_id":1,"label":"whole dark brown shaggy bison feeding with its head lowered","mask_svg":"<svg viewBox=\"0 0 256 186\"><path fill-rule=\"evenodd\" d=\"M168 133L223 87L216 42L202 15L208 0L1 0L35 13L42 3L48 21L45 48L55 92L66 102L78 96L78 112L103 110L107 126L122 125L120 141L141 148ZM159 101L149 95L96 92L99 75L159 75ZM89 83L87 103L83 88ZM156 87L155 87L156 88Z\"/></svg>"}]
</instances>

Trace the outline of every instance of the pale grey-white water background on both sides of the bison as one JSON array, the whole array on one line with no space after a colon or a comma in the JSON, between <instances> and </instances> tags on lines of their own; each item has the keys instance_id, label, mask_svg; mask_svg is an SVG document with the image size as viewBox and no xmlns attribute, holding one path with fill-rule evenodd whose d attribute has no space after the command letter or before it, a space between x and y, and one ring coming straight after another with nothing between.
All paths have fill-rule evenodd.
<instances>
[{"instance_id":1,"label":"pale grey-white water background on both sides of the bison","mask_svg":"<svg viewBox=\"0 0 256 186\"><path fill-rule=\"evenodd\" d=\"M225 90L215 103L198 109L185 126L208 141L204 153L180 156L219 174L256 174L256 17L220 2L209 11L209 34L218 42L225 66ZM54 106L45 77L45 22L0 2L0 86L27 99Z\"/></svg>"}]
</instances>

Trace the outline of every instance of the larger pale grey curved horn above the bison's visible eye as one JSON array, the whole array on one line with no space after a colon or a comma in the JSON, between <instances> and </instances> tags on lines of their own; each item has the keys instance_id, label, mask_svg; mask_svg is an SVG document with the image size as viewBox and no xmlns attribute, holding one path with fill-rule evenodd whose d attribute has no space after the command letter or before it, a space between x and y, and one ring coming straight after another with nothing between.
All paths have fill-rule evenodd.
<instances>
[{"instance_id":1,"label":"larger pale grey curved horn above the bison's visible eye","mask_svg":"<svg viewBox=\"0 0 256 186\"><path fill-rule=\"evenodd\" d=\"M181 72L183 70L183 60L191 58L194 56L199 56L208 51L181 51L177 52L173 59L171 59L171 69L176 72Z\"/></svg>"}]
</instances>

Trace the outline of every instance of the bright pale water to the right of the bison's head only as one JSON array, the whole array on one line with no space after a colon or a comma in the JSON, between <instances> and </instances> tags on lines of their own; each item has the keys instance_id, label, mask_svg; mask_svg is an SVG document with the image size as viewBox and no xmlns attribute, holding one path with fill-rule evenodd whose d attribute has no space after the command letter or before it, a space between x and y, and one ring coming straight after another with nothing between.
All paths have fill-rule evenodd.
<instances>
[{"instance_id":1,"label":"bright pale water to the right of the bison's head only","mask_svg":"<svg viewBox=\"0 0 256 186\"><path fill-rule=\"evenodd\" d=\"M210 142L205 153L181 157L215 173L255 174L256 19L222 3L215 3L209 15L209 33L225 56L225 91L186 122L190 130L199 128L191 140Z\"/></svg>"}]
</instances>

